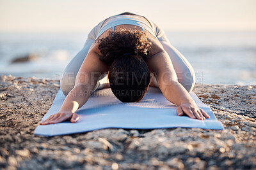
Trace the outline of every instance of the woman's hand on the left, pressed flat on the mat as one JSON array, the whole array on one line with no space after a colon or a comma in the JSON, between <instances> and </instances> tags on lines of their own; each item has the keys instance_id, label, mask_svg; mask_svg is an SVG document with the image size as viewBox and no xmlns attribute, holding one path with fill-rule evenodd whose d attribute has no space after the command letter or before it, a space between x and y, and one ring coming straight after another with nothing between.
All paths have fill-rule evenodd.
<instances>
[{"instance_id":1,"label":"woman's hand on the left, pressed flat on the mat","mask_svg":"<svg viewBox=\"0 0 256 170\"><path fill-rule=\"evenodd\" d=\"M78 119L79 116L72 111L58 111L58 113L55 113L44 120L44 122L40 122L40 125L58 124L60 122L64 122L65 120L70 120L70 122L76 123Z\"/></svg>"}]
</instances>

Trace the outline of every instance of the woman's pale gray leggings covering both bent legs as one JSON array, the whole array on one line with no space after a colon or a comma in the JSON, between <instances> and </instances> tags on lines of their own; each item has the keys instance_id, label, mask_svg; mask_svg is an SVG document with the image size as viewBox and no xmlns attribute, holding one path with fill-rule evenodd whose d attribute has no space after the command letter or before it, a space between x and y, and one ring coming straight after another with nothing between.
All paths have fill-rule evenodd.
<instances>
[{"instance_id":1,"label":"woman's pale gray leggings covering both bent legs","mask_svg":"<svg viewBox=\"0 0 256 170\"><path fill-rule=\"evenodd\" d=\"M185 87L188 92L193 90L195 86L195 71L188 60L171 44L166 35L164 34L163 29L157 26L154 22L149 20L152 23L152 27L154 29L154 33L157 36L157 39L161 42L164 47L164 50L169 54L170 59L172 60L173 67L177 74L177 78L179 83ZM100 27L102 26L104 20L96 25L92 31L88 34L88 39L86 40L83 49L77 53L77 55L68 63L67 67L64 70L63 77L61 78L61 90L65 96L74 88L76 75L81 67L83 60L85 59L90 46L95 41L98 32L100 31ZM156 78L153 78L154 84L157 85ZM103 88L104 83L108 83L107 74L102 74L99 80L97 81L97 85L95 86L95 90L99 90Z\"/></svg>"}]
</instances>

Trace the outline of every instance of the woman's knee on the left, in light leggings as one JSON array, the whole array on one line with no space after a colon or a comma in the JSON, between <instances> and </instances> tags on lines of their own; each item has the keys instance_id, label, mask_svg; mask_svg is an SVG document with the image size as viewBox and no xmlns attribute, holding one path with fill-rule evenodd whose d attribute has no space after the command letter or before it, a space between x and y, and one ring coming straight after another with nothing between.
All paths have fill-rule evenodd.
<instances>
[{"instance_id":1,"label":"woman's knee on the left, in light leggings","mask_svg":"<svg viewBox=\"0 0 256 170\"><path fill-rule=\"evenodd\" d=\"M75 73L64 73L60 80L60 89L65 96L74 88L76 81Z\"/></svg>"}]
</instances>

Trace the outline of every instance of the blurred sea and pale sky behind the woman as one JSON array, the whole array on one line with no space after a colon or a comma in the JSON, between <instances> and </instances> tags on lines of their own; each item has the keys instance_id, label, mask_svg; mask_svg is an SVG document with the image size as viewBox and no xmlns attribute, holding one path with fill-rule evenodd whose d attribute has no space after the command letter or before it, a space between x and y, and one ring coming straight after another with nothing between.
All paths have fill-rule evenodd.
<instances>
[{"instance_id":1,"label":"blurred sea and pale sky behind the woman","mask_svg":"<svg viewBox=\"0 0 256 170\"><path fill-rule=\"evenodd\" d=\"M88 32L124 11L162 27L197 83L256 85L255 0L0 0L0 74L60 79Z\"/></svg>"}]
</instances>

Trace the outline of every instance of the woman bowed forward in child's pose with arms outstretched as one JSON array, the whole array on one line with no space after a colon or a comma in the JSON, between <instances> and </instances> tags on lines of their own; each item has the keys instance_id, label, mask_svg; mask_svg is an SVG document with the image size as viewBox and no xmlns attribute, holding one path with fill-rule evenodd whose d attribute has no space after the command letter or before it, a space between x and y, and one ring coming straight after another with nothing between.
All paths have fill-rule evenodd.
<instances>
[{"instance_id":1,"label":"woman bowed forward in child's pose with arms outstretched","mask_svg":"<svg viewBox=\"0 0 256 170\"><path fill-rule=\"evenodd\" d=\"M100 22L88 34L84 48L65 68L61 90L65 101L60 111L41 125L65 120L75 123L75 111L99 89L111 87L122 102L138 102L148 86L159 87L176 104L179 116L205 120L207 113L189 95L195 72L166 38L164 31L147 18L121 13Z\"/></svg>"}]
</instances>

